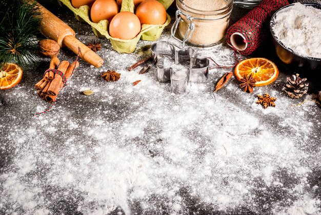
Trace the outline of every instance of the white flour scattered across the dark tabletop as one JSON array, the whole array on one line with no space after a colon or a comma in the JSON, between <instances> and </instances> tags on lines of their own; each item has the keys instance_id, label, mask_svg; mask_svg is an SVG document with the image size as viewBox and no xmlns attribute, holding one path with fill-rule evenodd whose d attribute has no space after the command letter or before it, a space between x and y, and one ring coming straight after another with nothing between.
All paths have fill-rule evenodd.
<instances>
[{"instance_id":1,"label":"white flour scattered across the dark tabletop","mask_svg":"<svg viewBox=\"0 0 321 215\"><path fill-rule=\"evenodd\" d=\"M320 111L313 103L292 106L272 90L282 80L249 94L232 78L212 94L228 71L213 69L207 83L173 95L169 83L157 82L155 68L139 75L140 68L126 70L138 59L104 49L99 54L119 59L103 69L118 68L121 79L107 83L101 69L81 65L53 111L39 118L32 111L47 104L32 93L35 80L14 91L23 101L13 91L4 94L0 213L321 212L312 180L321 171L319 139L313 138ZM234 63L224 46L199 55ZM84 86L95 93L83 95ZM276 108L255 104L264 92L277 97Z\"/></svg>"}]
</instances>

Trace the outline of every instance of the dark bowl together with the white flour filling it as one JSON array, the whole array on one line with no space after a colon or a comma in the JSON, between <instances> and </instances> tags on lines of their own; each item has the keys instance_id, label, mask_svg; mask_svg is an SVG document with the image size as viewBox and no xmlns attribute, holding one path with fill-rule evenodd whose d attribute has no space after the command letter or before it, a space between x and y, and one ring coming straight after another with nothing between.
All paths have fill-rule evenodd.
<instances>
[{"instance_id":1,"label":"dark bowl together with the white flour filling it","mask_svg":"<svg viewBox=\"0 0 321 215\"><path fill-rule=\"evenodd\" d=\"M280 60L321 69L321 5L287 5L272 16L270 30Z\"/></svg>"}]
</instances>

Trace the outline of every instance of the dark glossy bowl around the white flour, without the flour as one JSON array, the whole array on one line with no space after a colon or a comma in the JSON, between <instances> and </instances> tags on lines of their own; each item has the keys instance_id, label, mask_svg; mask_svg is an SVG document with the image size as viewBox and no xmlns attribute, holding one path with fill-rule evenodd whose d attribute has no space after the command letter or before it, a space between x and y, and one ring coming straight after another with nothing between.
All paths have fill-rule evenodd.
<instances>
[{"instance_id":1,"label":"dark glossy bowl around the white flour, without the flour","mask_svg":"<svg viewBox=\"0 0 321 215\"><path fill-rule=\"evenodd\" d=\"M321 5L319 4L312 3L312 4L304 4L304 5L321 9ZM271 18L270 31L273 37L273 43L275 46L276 54L280 58L280 60L283 61L285 64L292 64L298 67L307 67L307 68L310 68L311 70L321 69L321 58L306 57L306 56L298 55L292 49L283 45L283 43L278 40L278 38L276 37L273 31L274 21L277 13L280 10L283 10L284 8L291 7L291 6L293 6L293 4L287 5L279 9L274 13L274 15Z\"/></svg>"}]
</instances>

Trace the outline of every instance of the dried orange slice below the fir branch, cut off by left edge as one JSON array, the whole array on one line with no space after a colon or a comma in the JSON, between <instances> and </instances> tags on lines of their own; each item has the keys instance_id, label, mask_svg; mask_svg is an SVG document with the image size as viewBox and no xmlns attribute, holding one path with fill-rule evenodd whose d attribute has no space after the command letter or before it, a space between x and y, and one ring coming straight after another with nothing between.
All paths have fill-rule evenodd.
<instances>
[{"instance_id":1,"label":"dried orange slice below the fir branch, cut off by left edge","mask_svg":"<svg viewBox=\"0 0 321 215\"><path fill-rule=\"evenodd\" d=\"M8 63L0 69L0 89L9 89L21 81L22 69L16 64Z\"/></svg>"}]
</instances>

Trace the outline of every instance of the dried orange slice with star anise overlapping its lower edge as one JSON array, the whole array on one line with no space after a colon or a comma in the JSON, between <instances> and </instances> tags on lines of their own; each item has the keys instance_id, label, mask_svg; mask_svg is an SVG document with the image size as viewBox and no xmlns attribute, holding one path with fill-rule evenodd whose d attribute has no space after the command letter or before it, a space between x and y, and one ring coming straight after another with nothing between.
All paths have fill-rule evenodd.
<instances>
[{"instance_id":1,"label":"dried orange slice with star anise overlapping its lower edge","mask_svg":"<svg viewBox=\"0 0 321 215\"><path fill-rule=\"evenodd\" d=\"M278 76L276 65L267 58L249 58L239 62L235 67L235 77L239 81L244 76L253 74L255 86L265 86L274 82Z\"/></svg>"}]
</instances>

